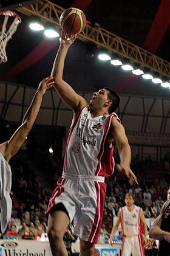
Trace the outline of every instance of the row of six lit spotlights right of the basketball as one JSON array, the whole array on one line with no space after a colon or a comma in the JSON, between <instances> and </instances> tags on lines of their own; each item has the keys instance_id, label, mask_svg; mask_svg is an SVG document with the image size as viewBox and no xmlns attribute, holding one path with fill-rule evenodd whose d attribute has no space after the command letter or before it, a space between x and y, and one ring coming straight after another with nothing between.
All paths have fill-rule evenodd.
<instances>
[{"instance_id":1,"label":"row of six lit spotlights right of the basketball","mask_svg":"<svg viewBox=\"0 0 170 256\"><path fill-rule=\"evenodd\" d=\"M162 87L170 89L169 81L163 82L160 78L154 78L148 73L145 74L141 69L134 69L131 65L123 64L120 60L112 60L108 54L99 54L98 58L103 61L110 61L114 66L121 66L124 71L132 71L134 75L141 75L146 80L152 80L153 83L160 84Z\"/></svg>"}]
</instances>

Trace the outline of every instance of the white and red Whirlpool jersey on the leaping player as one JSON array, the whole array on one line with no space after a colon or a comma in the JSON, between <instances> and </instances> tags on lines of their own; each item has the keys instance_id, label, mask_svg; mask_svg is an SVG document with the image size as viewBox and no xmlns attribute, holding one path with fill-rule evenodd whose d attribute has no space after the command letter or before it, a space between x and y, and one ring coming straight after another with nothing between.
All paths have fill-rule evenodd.
<instances>
[{"instance_id":1,"label":"white and red Whirlpool jersey on the leaping player","mask_svg":"<svg viewBox=\"0 0 170 256\"><path fill-rule=\"evenodd\" d=\"M112 118L118 119L117 114L92 118L88 106L81 109L67 137L64 172L75 175L112 175L113 145L108 145L106 140Z\"/></svg>"}]
</instances>

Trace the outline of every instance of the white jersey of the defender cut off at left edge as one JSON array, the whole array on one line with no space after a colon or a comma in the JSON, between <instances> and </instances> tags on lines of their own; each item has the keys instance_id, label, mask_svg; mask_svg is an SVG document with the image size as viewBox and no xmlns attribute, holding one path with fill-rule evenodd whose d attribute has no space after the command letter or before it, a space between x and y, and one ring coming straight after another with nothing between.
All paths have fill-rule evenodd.
<instances>
[{"instance_id":1,"label":"white jersey of the defender cut off at left edge","mask_svg":"<svg viewBox=\"0 0 170 256\"><path fill-rule=\"evenodd\" d=\"M7 163L7 161L5 161L4 156L2 156L1 152L0 152L0 171L1 171L0 221L1 221L1 230L2 230L2 233L4 233L12 213L12 199L10 198L12 175L11 175L10 165Z\"/></svg>"}]
</instances>

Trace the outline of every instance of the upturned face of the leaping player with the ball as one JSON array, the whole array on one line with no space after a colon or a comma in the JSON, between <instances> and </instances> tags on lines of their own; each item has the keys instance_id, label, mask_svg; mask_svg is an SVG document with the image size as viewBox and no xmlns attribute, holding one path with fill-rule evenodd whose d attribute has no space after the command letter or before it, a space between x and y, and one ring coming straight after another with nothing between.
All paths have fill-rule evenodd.
<instances>
[{"instance_id":1,"label":"upturned face of the leaping player with the ball","mask_svg":"<svg viewBox=\"0 0 170 256\"><path fill-rule=\"evenodd\" d=\"M104 103L107 102L107 94L109 92L106 89L100 89L98 92L94 92L92 100L90 100L89 106L94 108L102 108Z\"/></svg>"}]
</instances>

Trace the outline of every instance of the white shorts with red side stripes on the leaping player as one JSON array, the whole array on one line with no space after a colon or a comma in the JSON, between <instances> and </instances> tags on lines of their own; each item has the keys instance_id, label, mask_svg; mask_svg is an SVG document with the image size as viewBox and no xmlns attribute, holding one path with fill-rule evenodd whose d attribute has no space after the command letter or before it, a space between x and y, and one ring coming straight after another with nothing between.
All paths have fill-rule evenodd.
<instances>
[{"instance_id":1,"label":"white shorts with red side stripes on the leaping player","mask_svg":"<svg viewBox=\"0 0 170 256\"><path fill-rule=\"evenodd\" d=\"M98 243L105 192L104 177L63 173L49 200L47 213L61 202L69 213L70 222L73 220L74 233L84 241Z\"/></svg>"}]
</instances>

